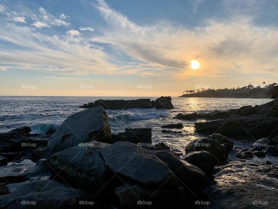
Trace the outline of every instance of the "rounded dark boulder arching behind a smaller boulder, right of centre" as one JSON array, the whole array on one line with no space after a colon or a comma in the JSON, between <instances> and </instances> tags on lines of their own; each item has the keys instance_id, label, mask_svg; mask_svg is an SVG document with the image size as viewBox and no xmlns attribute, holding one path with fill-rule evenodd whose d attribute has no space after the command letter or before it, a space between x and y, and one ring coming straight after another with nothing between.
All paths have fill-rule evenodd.
<instances>
[{"instance_id":1,"label":"rounded dark boulder arching behind a smaller boulder, right of centre","mask_svg":"<svg viewBox=\"0 0 278 209\"><path fill-rule=\"evenodd\" d=\"M191 141L185 147L185 153L205 150L212 154L215 165L224 165L227 161L228 155L224 147L217 141L202 138Z\"/></svg>"}]
</instances>

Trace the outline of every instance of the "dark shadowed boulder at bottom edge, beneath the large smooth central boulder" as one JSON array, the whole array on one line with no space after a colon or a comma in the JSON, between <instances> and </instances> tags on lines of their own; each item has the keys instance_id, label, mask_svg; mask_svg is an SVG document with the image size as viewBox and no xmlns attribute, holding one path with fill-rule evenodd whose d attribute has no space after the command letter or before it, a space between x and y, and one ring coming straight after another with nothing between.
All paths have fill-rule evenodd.
<instances>
[{"instance_id":1,"label":"dark shadowed boulder at bottom edge, beneath the large smooth central boulder","mask_svg":"<svg viewBox=\"0 0 278 209\"><path fill-rule=\"evenodd\" d=\"M116 188L116 197L123 209L129 208L180 208L186 204L184 188L122 185ZM167 201L165 201L167 199Z\"/></svg>"}]
</instances>

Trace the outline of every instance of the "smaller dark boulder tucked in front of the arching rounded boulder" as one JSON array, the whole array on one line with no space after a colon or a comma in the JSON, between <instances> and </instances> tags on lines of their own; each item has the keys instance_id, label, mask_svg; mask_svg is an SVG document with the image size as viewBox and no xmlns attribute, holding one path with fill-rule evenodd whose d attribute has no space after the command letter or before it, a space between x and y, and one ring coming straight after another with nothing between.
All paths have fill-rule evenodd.
<instances>
[{"instance_id":1,"label":"smaller dark boulder tucked in front of the arching rounded boulder","mask_svg":"<svg viewBox=\"0 0 278 209\"><path fill-rule=\"evenodd\" d=\"M214 170L214 160L209 152L189 152L182 159L200 168L208 178L211 177Z\"/></svg>"}]
</instances>

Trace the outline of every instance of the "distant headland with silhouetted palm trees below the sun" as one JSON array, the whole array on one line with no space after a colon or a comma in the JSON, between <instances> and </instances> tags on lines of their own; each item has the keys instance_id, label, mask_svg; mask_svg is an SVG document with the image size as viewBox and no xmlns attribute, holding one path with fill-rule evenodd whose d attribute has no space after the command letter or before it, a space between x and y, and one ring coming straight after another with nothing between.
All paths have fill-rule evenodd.
<instances>
[{"instance_id":1,"label":"distant headland with silhouetted palm trees below the sun","mask_svg":"<svg viewBox=\"0 0 278 209\"><path fill-rule=\"evenodd\" d=\"M277 83L268 84L263 82L264 87L261 85L254 87L249 84L245 87L237 87L235 88L220 88L220 89L204 89L201 88L195 90L186 90L183 92L182 96L179 97L203 97L203 98L270 98L267 94L268 89L277 86ZM201 86L200 86L201 87Z\"/></svg>"}]
</instances>

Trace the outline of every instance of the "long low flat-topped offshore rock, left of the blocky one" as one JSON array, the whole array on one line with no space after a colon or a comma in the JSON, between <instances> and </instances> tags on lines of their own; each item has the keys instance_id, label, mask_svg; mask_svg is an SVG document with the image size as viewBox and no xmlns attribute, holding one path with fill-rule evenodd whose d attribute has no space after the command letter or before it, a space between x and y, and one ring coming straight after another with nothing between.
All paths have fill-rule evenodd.
<instances>
[{"instance_id":1,"label":"long low flat-topped offshore rock, left of the blocky one","mask_svg":"<svg viewBox=\"0 0 278 209\"><path fill-rule=\"evenodd\" d=\"M96 100L89 102L82 108L92 108L102 106L104 109L129 109L129 108L152 108L151 99L137 99L137 100Z\"/></svg>"}]
</instances>

